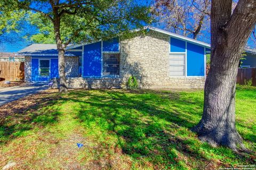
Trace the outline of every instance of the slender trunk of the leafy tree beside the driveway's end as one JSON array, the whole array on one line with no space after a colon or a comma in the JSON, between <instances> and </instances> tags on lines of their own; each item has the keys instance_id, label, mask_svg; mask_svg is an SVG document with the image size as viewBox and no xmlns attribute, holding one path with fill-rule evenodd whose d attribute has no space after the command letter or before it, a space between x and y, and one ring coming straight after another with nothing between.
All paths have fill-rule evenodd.
<instances>
[{"instance_id":1,"label":"slender trunk of the leafy tree beside the driveway's end","mask_svg":"<svg viewBox=\"0 0 256 170\"><path fill-rule=\"evenodd\" d=\"M60 78L60 88L59 92L67 92L67 80L65 73L65 48L63 48L63 44L60 37L60 18L56 17L54 19L54 35L58 49L58 66L59 66L59 78Z\"/></svg>"}]
</instances>

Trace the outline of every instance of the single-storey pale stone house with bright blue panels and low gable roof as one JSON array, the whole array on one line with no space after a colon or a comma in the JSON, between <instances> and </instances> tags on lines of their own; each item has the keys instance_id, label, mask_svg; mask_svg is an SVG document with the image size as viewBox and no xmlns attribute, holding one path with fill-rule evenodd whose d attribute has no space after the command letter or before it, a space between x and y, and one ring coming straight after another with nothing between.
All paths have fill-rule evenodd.
<instances>
[{"instance_id":1,"label":"single-storey pale stone house with bright blue panels and low gable roof","mask_svg":"<svg viewBox=\"0 0 256 170\"><path fill-rule=\"evenodd\" d=\"M131 75L140 88L204 87L210 44L153 27L133 32L130 39L68 46L69 88L123 88ZM19 54L25 55L25 81L58 78L56 45L33 44Z\"/></svg>"}]
</instances>

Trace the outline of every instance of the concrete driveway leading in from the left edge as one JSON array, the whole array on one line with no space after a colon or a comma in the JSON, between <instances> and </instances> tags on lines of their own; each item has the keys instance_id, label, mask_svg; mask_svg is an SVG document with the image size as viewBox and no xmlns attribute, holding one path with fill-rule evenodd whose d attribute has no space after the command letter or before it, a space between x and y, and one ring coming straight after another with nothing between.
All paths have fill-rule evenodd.
<instances>
[{"instance_id":1,"label":"concrete driveway leading in from the left edge","mask_svg":"<svg viewBox=\"0 0 256 170\"><path fill-rule=\"evenodd\" d=\"M47 88L47 83L28 83L22 86L0 88L0 106Z\"/></svg>"}]
</instances>

